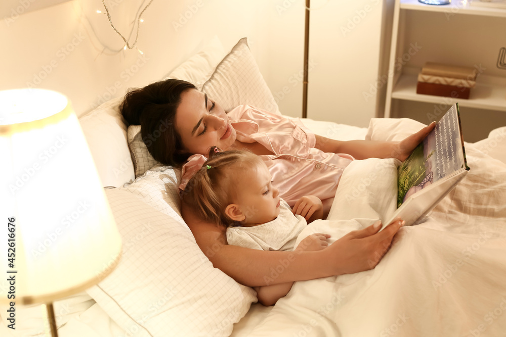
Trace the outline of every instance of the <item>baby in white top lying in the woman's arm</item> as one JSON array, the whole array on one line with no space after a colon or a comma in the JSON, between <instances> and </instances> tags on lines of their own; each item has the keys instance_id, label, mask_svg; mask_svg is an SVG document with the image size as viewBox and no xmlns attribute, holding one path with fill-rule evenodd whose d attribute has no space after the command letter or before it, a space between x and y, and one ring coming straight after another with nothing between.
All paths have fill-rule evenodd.
<instances>
[{"instance_id":1,"label":"baby in white top lying in the woman's arm","mask_svg":"<svg viewBox=\"0 0 506 337\"><path fill-rule=\"evenodd\" d=\"M247 151L221 152L213 147L208 160L182 193L183 202L202 220L227 225L229 245L259 250L293 250L308 222L323 215L315 196L302 197L293 210L279 198L272 176L257 155ZM304 238L297 250L314 251L327 246L327 234ZM273 305L285 296L293 282L257 286L257 297Z\"/></svg>"}]
</instances>

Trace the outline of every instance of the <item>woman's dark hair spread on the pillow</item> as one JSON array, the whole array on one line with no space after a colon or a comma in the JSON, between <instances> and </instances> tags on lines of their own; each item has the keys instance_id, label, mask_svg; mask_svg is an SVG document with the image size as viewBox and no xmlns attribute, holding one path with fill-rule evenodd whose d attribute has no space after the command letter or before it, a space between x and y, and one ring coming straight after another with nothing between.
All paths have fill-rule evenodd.
<instances>
[{"instance_id":1,"label":"woman's dark hair spread on the pillow","mask_svg":"<svg viewBox=\"0 0 506 337\"><path fill-rule=\"evenodd\" d=\"M190 82L167 79L129 89L119 106L129 124L141 126L149 153L163 165L180 166L192 155L183 153L183 142L174 125L181 94L190 89L196 89Z\"/></svg>"}]
</instances>

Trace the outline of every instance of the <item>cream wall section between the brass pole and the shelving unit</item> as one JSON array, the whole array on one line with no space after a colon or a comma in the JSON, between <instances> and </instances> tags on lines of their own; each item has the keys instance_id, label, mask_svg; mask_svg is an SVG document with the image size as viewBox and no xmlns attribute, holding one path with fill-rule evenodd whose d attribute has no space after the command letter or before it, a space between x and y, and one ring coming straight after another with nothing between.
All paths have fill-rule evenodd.
<instances>
[{"instance_id":1,"label":"cream wall section between the brass pole and the shelving unit","mask_svg":"<svg viewBox=\"0 0 506 337\"><path fill-rule=\"evenodd\" d=\"M383 117L393 0L311 1L308 117L367 127ZM385 28L382 30L382 26Z\"/></svg>"}]
</instances>

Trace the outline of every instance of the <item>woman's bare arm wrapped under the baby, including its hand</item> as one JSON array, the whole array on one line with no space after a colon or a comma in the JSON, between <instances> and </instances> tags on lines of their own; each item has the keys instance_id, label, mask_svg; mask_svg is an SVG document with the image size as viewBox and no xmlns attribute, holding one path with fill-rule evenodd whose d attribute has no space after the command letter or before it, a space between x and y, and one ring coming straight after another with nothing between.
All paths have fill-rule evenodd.
<instances>
[{"instance_id":1,"label":"woman's bare arm wrapped under the baby, including its hand","mask_svg":"<svg viewBox=\"0 0 506 337\"><path fill-rule=\"evenodd\" d=\"M388 251L400 223L378 232L372 225L343 236L316 252L269 252L231 246L226 228L197 219L182 205L182 215L202 252L216 268L247 286L262 286L349 274L374 268Z\"/></svg>"}]
</instances>

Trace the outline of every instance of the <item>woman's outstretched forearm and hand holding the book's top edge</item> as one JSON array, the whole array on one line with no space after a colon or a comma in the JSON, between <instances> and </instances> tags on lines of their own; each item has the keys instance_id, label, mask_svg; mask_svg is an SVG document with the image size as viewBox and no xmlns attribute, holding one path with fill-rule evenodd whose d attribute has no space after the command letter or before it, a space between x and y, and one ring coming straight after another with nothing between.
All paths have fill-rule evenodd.
<instances>
[{"instance_id":1,"label":"woman's outstretched forearm and hand holding the book's top edge","mask_svg":"<svg viewBox=\"0 0 506 337\"><path fill-rule=\"evenodd\" d=\"M416 146L432 131L435 122L401 141L373 141L373 140L334 140L323 136L316 136L317 149L329 153L347 153L355 159L366 158L397 158L406 160Z\"/></svg>"}]
</instances>

